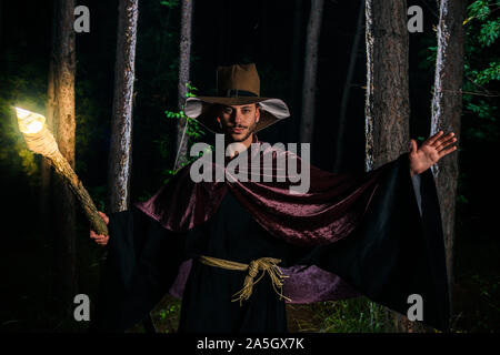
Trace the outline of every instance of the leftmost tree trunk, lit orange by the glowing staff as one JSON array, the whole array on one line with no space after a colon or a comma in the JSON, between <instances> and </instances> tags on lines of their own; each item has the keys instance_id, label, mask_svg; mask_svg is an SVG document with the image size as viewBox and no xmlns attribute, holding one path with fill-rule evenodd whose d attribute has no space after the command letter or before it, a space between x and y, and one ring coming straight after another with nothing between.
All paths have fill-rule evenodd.
<instances>
[{"instance_id":1,"label":"leftmost tree trunk, lit orange by the glowing staff","mask_svg":"<svg viewBox=\"0 0 500 355\"><path fill-rule=\"evenodd\" d=\"M53 48L53 126L61 154L74 169L74 0L56 0ZM57 176L54 174L54 176ZM77 294L74 196L61 178L53 184L54 201L54 292L60 311L71 313Z\"/></svg>"}]
</instances>

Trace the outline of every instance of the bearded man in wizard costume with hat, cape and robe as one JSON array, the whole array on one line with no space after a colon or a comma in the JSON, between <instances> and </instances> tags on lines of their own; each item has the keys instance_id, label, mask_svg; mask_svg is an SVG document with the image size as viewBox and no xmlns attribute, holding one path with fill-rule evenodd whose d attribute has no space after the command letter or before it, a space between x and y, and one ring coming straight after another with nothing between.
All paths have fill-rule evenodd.
<instances>
[{"instance_id":1,"label":"bearded man in wizard costume with hat, cape and robe","mask_svg":"<svg viewBox=\"0 0 500 355\"><path fill-rule=\"evenodd\" d=\"M232 162L251 160L259 179L194 182L194 162L149 201L102 214L110 236L90 233L99 245L109 242L94 327L124 331L170 292L182 297L179 332L286 332L286 302L357 295L406 314L416 294L423 300L418 320L446 329L444 248L429 168L456 150L453 133L420 148L411 140L409 154L372 172L331 174L259 142L256 132L289 112L259 95L254 64L219 68L218 87L218 97L186 102L188 116L226 139L222 162L211 154L197 162L208 162L209 175L236 176ZM290 193L296 176L279 169L282 159L309 169L307 193Z\"/></svg>"}]
</instances>

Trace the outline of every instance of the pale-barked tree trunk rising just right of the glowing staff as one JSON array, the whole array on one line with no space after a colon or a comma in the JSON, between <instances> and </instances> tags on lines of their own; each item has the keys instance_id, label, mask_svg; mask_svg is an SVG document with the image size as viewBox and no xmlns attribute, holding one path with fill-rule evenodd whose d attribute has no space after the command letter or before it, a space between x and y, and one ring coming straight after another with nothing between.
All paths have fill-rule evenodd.
<instances>
[{"instance_id":1,"label":"pale-barked tree trunk rising just right of the glowing staff","mask_svg":"<svg viewBox=\"0 0 500 355\"><path fill-rule=\"evenodd\" d=\"M138 0L118 4L117 60L108 164L108 212L124 211L130 202L132 165L132 104L136 63Z\"/></svg>"}]
</instances>

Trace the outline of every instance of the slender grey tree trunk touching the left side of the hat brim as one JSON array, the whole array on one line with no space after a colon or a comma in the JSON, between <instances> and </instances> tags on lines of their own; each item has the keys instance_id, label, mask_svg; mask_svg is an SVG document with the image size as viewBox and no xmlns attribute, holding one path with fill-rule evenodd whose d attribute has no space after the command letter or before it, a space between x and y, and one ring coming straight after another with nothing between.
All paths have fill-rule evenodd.
<instances>
[{"instance_id":1,"label":"slender grey tree trunk touching the left side of the hat brim","mask_svg":"<svg viewBox=\"0 0 500 355\"><path fill-rule=\"evenodd\" d=\"M186 94L188 91L189 70L191 64L191 22L192 22L192 1L182 0L181 4L181 33L180 33L180 54L179 54L179 111L183 110ZM177 156L176 169L180 168L188 158L188 134L187 119L180 118L177 125Z\"/></svg>"}]
</instances>

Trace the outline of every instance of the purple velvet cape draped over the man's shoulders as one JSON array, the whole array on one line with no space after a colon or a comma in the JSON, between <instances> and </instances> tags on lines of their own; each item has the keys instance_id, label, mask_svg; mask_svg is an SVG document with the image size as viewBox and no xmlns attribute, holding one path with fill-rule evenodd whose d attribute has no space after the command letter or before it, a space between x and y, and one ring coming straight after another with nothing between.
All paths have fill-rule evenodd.
<instances>
[{"instance_id":1,"label":"purple velvet cape draped over the man's shoulders","mask_svg":"<svg viewBox=\"0 0 500 355\"><path fill-rule=\"evenodd\" d=\"M150 200L136 203L136 206L166 229L184 232L210 219L230 189L270 234L298 245L324 245L349 236L356 229L377 191L383 171L389 169L389 165L384 165L366 174L329 173L307 164L293 152L260 142L257 135L253 135L253 144L246 156L247 170L243 172L248 172L247 182L226 179L226 182L194 183L190 179L190 164ZM259 156L257 164L256 160L252 163L256 156ZM212 181L216 181L216 170L226 173L230 160L226 159L223 164L218 164L211 154L206 158L210 161ZM300 172L302 165L303 169L310 169L308 193L290 193L290 185L297 183L290 181L289 171L278 166L278 160L287 163L293 160L297 164L294 172ZM257 173L252 170L256 165L260 168ZM266 166L270 170L266 171ZM234 173L242 170L241 165L234 170L229 169L228 175L234 176ZM272 182L263 182L264 175L272 176ZM256 176L260 178L260 182L256 182ZM296 176L297 174L293 175ZM286 181L278 182L278 178L284 178ZM182 297L191 263L189 260L179 268L169 291L171 295ZM338 275L316 265L294 265L281 270L290 276L283 285L284 295L291 298L288 303L304 304L361 295Z\"/></svg>"}]
</instances>

